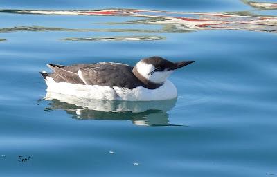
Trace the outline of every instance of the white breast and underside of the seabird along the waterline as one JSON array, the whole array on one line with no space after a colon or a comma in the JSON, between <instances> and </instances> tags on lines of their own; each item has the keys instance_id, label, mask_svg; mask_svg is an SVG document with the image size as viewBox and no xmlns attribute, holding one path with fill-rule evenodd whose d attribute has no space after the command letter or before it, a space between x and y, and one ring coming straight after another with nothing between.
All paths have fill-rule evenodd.
<instances>
[{"instance_id":1,"label":"white breast and underside of the seabird along the waterline","mask_svg":"<svg viewBox=\"0 0 277 177\"><path fill-rule=\"evenodd\" d=\"M55 82L51 77L46 77L47 91L84 97L98 100L128 100L128 101L150 101L170 100L177 97L177 89L172 82L166 82L157 89L148 89L142 86L134 89L120 88L114 86L70 84L67 82Z\"/></svg>"}]
</instances>

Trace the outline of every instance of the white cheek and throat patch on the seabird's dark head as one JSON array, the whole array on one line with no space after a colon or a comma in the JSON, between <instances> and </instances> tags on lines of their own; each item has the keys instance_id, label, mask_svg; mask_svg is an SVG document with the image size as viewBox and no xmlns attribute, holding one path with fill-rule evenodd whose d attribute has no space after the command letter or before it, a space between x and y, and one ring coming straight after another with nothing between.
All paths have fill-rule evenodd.
<instances>
[{"instance_id":1,"label":"white cheek and throat patch on the seabird's dark head","mask_svg":"<svg viewBox=\"0 0 277 177\"><path fill-rule=\"evenodd\" d=\"M152 64L147 64L143 61L140 61L136 64L136 70L139 72L140 75L145 77L145 79L149 80L150 82L154 82L156 84L162 84L166 82L166 79L173 73L172 70L170 71L155 71L151 75L152 71L154 71L155 67Z\"/></svg>"}]
</instances>

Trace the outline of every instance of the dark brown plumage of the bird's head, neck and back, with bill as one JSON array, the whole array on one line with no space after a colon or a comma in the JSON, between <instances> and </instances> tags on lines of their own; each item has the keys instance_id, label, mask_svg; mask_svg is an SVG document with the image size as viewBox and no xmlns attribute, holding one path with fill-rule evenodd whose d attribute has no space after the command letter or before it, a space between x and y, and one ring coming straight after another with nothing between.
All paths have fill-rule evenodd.
<instances>
[{"instance_id":1,"label":"dark brown plumage of the bird's head, neck and back, with bill","mask_svg":"<svg viewBox=\"0 0 277 177\"><path fill-rule=\"evenodd\" d=\"M147 73L152 75L154 72L163 72L181 68L194 61L170 62L162 57L149 57L142 59L141 62L151 64L154 70ZM137 66L127 64L118 64L111 62L101 62L97 64L75 64L71 66L62 66L57 64L48 64L53 73L41 73L44 79L52 77L55 82L68 82L71 84L98 85L98 86L118 86L121 88L133 89L143 86L148 89L159 88L159 84L152 82L147 77L139 73ZM144 66L143 66L144 67Z\"/></svg>"}]
</instances>

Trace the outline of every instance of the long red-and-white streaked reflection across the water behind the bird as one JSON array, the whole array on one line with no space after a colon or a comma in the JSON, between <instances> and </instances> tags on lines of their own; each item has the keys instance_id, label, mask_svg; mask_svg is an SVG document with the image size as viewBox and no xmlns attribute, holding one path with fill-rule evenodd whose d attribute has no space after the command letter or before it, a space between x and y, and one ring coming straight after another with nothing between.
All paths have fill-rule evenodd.
<instances>
[{"instance_id":1,"label":"long red-and-white streaked reflection across the water behind the bird","mask_svg":"<svg viewBox=\"0 0 277 177\"><path fill-rule=\"evenodd\" d=\"M275 6L275 5L272 5ZM129 16L143 19L124 22L108 22L109 25L147 24L160 25L161 29L66 29L39 26L19 26L1 28L0 32L19 30L66 30L66 31L98 31L98 32L188 32L195 30L251 30L277 32L277 17L256 15L251 12L167 12L159 10L139 9L107 9L107 10L0 10L0 12L33 14L33 15L92 15L92 16ZM130 36L131 37L131 36Z\"/></svg>"}]
</instances>

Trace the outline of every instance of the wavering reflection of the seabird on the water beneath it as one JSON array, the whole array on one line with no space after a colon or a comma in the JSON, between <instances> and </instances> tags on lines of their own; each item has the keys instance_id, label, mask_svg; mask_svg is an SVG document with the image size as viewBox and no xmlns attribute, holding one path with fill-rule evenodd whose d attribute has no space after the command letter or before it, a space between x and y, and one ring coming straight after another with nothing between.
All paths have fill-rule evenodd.
<instances>
[{"instance_id":1,"label":"wavering reflection of the seabird on the water beneath it","mask_svg":"<svg viewBox=\"0 0 277 177\"><path fill-rule=\"evenodd\" d=\"M43 100L50 101L45 111L62 109L78 120L131 120L145 126L172 126L168 111L177 98L148 102L120 100L90 100L58 93L47 92ZM176 126L176 125L175 125Z\"/></svg>"}]
</instances>

